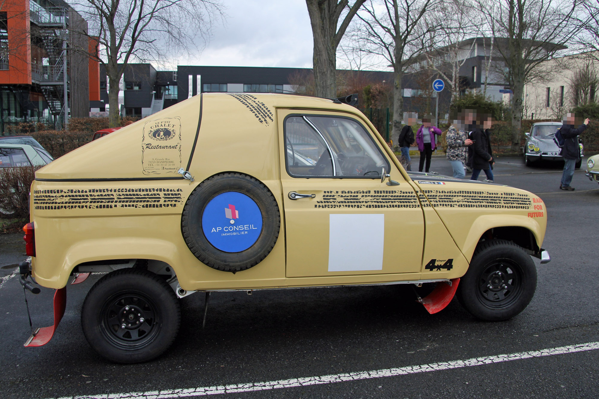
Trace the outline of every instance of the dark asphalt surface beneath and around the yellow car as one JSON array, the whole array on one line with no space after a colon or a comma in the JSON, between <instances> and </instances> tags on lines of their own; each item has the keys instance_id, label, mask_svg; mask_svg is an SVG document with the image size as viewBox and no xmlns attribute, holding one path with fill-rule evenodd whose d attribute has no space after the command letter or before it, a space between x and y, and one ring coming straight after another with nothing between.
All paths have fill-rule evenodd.
<instances>
[{"instance_id":1,"label":"dark asphalt surface beneath and around the yellow car","mask_svg":"<svg viewBox=\"0 0 599 399\"><path fill-rule=\"evenodd\" d=\"M198 293L181 300L179 338L165 355L115 365L96 355L81 333L81 304L98 279L93 276L69 286L53 340L23 347L29 322L23 290L10 276L25 258L24 246L20 234L0 235L0 397L150 398L161 390L167 391L159 397L176 397L168 390L221 386L196 389L199 395L226 385L286 380L279 383L283 388L241 386L218 397L597 398L599 186L577 171L576 191L559 191L559 167L527 168L521 158L497 161L495 182L539 194L549 214L543 246L552 261L535 261L536 294L510 321L477 321L457 300L428 315L410 288L379 286L213 293L202 330L204 294ZM431 170L450 174L451 168L434 158ZM52 295L49 289L28 295L34 326L52 324ZM497 357L585 343L591 343L588 350L573 353ZM443 364L472 358L483 359ZM418 365L428 366L410 367ZM344 375L369 370L383 371L381 377ZM319 378L311 379L314 385L292 386L299 377Z\"/></svg>"}]
</instances>

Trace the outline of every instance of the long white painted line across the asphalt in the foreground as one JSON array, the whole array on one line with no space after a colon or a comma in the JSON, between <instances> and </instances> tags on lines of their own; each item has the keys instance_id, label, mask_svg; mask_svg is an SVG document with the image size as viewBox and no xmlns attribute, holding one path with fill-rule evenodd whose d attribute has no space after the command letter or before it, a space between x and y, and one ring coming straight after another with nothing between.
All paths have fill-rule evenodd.
<instances>
[{"instance_id":1,"label":"long white painted line across the asphalt in the foreground","mask_svg":"<svg viewBox=\"0 0 599 399\"><path fill-rule=\"evenodd\" d=\"M68 396L59 399L168 399L189 398L205 395L232 394L239 392L265 391L267 389L291 388L292 386L308 386L334 382L356 381L380 377L401 376L405 374L426 373L428 371L450 370L452 368L471 367L494 364L512 360L540 358L543 356L561 355L563 353L585 352L599 349L599 342L553 347L549 349L531 350L530 352L509 353L507 355L483 356L466 360L453 360L430 364L413 365L382 370L358 371L355 373L330 374L319 377L299 377L287 380L268 382L249 382L232 385L202 386L200 388L164 389L148 392L122 392L120 394Z\"/></svg>"}]
</instances>

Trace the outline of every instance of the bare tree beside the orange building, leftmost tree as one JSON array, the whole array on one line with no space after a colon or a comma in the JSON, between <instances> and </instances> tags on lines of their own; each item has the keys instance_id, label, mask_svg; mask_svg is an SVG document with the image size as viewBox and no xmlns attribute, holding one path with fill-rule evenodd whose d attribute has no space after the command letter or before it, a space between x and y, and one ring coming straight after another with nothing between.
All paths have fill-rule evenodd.
<instances>
[{"instance_id":1,"label":"bare tree beside the orange building, leftmost tree","mask_svg":"<svg viewBox=\"0 0 599 399\"><path fill-rule=\"evenodd\" d=\"M129 62L189 52L196 38L208 37L214 17L222 16L218 0L79 0L74 7L89 21L89 35L98 38L111 127L119 125L119 81Z\"/></svg>"}]
</instances>

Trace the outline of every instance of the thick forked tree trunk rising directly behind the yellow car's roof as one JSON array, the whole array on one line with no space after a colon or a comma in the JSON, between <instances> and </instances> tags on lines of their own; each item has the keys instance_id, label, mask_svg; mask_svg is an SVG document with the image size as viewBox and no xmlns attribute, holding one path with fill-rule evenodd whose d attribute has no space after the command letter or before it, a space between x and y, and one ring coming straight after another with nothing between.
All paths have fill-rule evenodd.
<instances>
[{"instance_id":1,"label":"thick forked tree trunk rising directly behind the yellow car's roof","mask_svg":"<svg viewBox=\"0 0 599 399\"><path fill-rule=\"evenodd\" d=\"M316 95L334 98L337 95L335 71L337 71L337 47L347 30L347 26L366 0L306 0L312 35L314 38L314 81ZM343 21L339 19L344 10L349 8Z\"/></svg>"}]
</instances>

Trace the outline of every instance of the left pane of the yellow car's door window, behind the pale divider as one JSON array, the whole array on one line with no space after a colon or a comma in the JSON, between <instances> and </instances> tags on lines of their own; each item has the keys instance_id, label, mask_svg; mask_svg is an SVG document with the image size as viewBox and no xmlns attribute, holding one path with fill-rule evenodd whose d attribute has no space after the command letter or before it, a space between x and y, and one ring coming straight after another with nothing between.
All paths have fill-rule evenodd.
<instances>
[{"instance_id":1,"label":"left pane of the yellow car's door window, behind the pale divider","mask_svg":"<svg viewBox=\"0 0 599 399\"><path fill-rule=\"evenodd\" d=\"M290 176L334 176L329 149L301 116L285 120L286 165Z\"/></svg>"}]
</instances>

